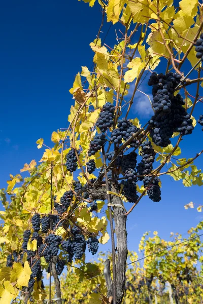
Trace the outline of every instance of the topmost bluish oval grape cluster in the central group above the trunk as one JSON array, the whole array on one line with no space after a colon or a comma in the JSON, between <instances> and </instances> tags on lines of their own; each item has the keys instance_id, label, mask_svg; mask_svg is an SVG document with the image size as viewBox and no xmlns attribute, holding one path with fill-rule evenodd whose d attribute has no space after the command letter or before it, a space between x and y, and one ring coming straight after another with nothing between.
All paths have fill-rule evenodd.
<instances>
[{"instance_id":1,"label":"topmost bluish oval grape cluster in the central group above the trunk","mask_svg":"<svg viewBox=\"0 0 203 304\"><path fill-rule=\"evenodd\" d=\"M101 132L107 131L108 128L113 126L114 123L114 105L110 102L107 102L103 105L99 113L99 118L96 122L96 126L100 129Z\"/></svg>"}]
</instances>

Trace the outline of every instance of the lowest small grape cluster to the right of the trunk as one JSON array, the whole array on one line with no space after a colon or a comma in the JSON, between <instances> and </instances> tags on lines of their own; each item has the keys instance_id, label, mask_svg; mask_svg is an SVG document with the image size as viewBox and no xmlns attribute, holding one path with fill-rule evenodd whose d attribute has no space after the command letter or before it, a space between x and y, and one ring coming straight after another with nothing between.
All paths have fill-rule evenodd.
<instances>
[{"instance_id":1,"label":"lowest small grape cluster to the right of the trunk","mask_svg":"<svg viewBox=\"0 0 203 304\"><path fill-rule=\"evenodd\" d=\"M161 191L159 186L159 178L156 176L152 183L150 183L150 180L152 179L152 176L145 176L143 179L144 187L148 187L147 194L149 198L153 202L159 202L161 200Z\"/></svg>"}]
</instances>

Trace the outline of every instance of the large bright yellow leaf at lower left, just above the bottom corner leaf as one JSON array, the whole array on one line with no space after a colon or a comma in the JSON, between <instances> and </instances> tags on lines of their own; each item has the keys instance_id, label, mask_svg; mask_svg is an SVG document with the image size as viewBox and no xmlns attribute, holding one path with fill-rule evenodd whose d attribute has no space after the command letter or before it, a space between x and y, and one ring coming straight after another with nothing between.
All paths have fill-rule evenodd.
<instances>
[{"instance_id":1,"label":"large bright yellow leaf at lower left, just above the bottom corner leaf","mask_svg":"<svg viewBox=\"0 0 203 304\"><path fill-rule=\"evenodd\" d=\"M28 286L28 281L31 275L31 269L28 261L25 261L24 268L21 263L14 262L11 272L11 282L17 281L17 287Z\"/></svg>"}]
</instances>

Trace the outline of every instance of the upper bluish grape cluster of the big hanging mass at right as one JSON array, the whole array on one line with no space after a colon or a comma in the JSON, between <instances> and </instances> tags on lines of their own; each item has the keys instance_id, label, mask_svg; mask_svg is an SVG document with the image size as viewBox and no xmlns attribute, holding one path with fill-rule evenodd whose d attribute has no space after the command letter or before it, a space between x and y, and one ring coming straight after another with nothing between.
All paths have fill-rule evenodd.
<instances>
[{"instance_id":1,"label":"upper bluish grape cluster of the big hanging mass at right","mask_svg":"<svg viewBox=\"0 0 203 304\"><path fill-rule=\"evenodd\" d=\"M153 72L150 76L148 85L153 86L153 108L155 113L167 113L171 111L171 99L173 98L174 89L180 83L181 75L177 73L167 73L166 75Z\"/></svg>"}]
</instances>

